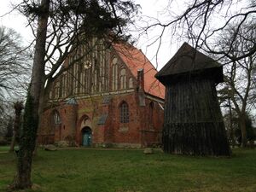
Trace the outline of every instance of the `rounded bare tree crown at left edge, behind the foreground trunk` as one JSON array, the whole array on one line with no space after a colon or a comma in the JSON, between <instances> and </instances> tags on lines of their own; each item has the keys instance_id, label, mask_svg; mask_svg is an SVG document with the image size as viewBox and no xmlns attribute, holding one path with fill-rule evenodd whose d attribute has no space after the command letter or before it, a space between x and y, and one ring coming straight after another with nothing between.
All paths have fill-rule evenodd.
<instances>
[{"instance_id":1,"label":"rounded bare tree crown at left edge, behind the foreground trunk","mask_svg":"<svg viewBox=\"0 0 256 192\"><path fill-rule=\"evenodd\" d=\"M0 27L0 100L24 96L30 70L29 55L21 45L20 35Z\"/></svg>"}]
</instances>

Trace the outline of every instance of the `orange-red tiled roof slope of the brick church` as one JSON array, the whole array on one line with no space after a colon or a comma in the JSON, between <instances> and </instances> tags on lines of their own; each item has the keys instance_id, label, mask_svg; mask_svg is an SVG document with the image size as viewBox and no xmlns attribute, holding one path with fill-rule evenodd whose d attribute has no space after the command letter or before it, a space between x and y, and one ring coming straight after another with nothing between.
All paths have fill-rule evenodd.
<instances>
[{"instance_id":1,"label":"orange-red tiled roof slope of the brick church","mask_svg":"<svg viewBox=\"0 0 256 192\"><path fill-rule=\"evenodd\" d=\"M157 70L148 61L142 50L133 47L131 44L113 44L113 49L116 50L122 61L129 67L134 77L137 78L138 70L144 70L144 90L146 93L162 99L165 98L165 86L154 78Z\"/></svg>"}]
</instances>

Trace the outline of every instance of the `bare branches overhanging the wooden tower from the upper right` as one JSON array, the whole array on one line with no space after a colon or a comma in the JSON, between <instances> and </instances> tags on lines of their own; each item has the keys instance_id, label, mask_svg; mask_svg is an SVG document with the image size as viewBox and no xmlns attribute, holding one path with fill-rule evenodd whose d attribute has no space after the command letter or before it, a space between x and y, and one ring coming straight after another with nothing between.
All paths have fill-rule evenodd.
<instances>
[{"instance_id":1,"label":"bare branches overhanging the wooden tower from the upper right","mask_svg":"<svg viewBox=\"0 0 256 192\"><path fill-rule=\"evenodd\" d=\"M168 0L166 9L162 10L160 18L145 17L144 25L140 28L140 36L158 32L148 42L148 45L158 44L157 54L163 41L172 39L172 43L178 40L188 40L195 49L204 49L208 53L224 55L230 60L238 61L256 52L256 44L251 44L243 51L242 55L232 55L231 48L236 40L237 32L244 23L250 25L256 16L256 3L253 0L192 0L177 2ZM230 37L230 47L225 51L216 49L218 36L234 26L234 35ZM154 30L156 29L156 30Z\"/></svg>"}]
</instances>

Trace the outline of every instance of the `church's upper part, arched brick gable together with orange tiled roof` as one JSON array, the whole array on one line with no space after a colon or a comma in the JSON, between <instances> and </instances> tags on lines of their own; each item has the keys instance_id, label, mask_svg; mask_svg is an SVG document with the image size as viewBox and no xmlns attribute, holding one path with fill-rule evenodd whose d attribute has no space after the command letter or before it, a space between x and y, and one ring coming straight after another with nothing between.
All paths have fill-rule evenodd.
<instances>
[{"instance_id":1,"label":"church's upper part, arched brick gable together with orange tiled roof","mask_svg":"<svg viewBox=\"0 0 256 192\"><path fill-rule=\"evenodd\" d=\"M93 38L67 57L68 68L55 79L49 93L50 100L70 96L91 96L137 88L137 71L144 70L144 91L164 98L165 88L154 78L154 66L141 50L126 43L109 44Z\"/></svg>"}]
</instances>

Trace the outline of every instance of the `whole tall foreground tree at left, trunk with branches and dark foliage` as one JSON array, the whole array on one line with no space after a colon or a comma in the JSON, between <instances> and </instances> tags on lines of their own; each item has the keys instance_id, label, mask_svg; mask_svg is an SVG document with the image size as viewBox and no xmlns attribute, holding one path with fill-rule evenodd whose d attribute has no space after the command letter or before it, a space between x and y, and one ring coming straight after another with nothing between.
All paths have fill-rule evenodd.
<instances>
[{"instance_id":1,"label":"whole tall foreground tree at left, trunk with branches and dark foliage","mask_svg":"<svg viewBox=\"0 0 256 192\"><path fill-rule=\"evenodd\" d=\"M35 52L12 189L32 186L32 153L44 95L50 82L67 70L68 67L62 67L67 55L92 37L108 38L109 41L127 38L125 26L132 22L136 9L131 1L125 0L41 0L40 3L24 0L20 4L20 11L35 32ZM75 61L83 57L79 55Z\"/></svg>"}]
</instances>

